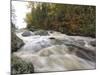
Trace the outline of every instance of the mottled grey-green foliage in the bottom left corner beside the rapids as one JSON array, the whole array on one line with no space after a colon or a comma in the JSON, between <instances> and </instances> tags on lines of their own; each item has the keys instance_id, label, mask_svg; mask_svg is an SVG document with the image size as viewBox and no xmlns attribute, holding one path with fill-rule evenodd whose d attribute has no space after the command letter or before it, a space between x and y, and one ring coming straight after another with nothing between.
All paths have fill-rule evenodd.
<instances>
[{"instance_id":1,"label":"mottled grey-green foliage in the bottom left corner beside the rapids","mask_svg":"<svg viewBox=\"0 0 100 75\"><path fill-rule=\"evenodd\" d=\"M12 55L11 57L11 74L34 73L34 67L31 63L23 61L21 58Z\"/></svg>"}]
</instances>

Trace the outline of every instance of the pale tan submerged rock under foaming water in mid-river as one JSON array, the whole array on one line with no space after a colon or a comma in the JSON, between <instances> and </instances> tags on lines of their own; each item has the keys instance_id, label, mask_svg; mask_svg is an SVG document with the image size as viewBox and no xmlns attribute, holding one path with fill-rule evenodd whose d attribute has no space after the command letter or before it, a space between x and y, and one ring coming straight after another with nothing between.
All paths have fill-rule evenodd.
<instances>
[{"instance_id":1,"label":"pale tan submerged rock under foaming water in mid-river","mask_svg":"<svg viewBox=\"0 0 100 75\"><path fill-rule=\"evenodd\" d=\"M63 55L68 53L68 47L65 45L53 45L48 48L44 48L38 52L40 56L50 56L50 55Z\"/></svg>"}]
</instances>

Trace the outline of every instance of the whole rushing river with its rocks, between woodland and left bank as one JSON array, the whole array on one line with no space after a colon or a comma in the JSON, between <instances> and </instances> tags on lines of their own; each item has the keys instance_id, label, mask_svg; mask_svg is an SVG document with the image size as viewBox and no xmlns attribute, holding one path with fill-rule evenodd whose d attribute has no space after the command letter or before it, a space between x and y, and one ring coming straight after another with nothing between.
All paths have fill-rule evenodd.
<instances>
[{"instance_id":1,"label":"whole rushing river with its rocks, between woodland and left bank","mask_svg":"<svg viewBox=\"0 0 100 75\"><path fill-rule=\"evenodd\" d=\"M56 31L16 32L24 45L13 54L34 65L35 72L95 69L96 39Z\"/></svg>"}]
</instances>

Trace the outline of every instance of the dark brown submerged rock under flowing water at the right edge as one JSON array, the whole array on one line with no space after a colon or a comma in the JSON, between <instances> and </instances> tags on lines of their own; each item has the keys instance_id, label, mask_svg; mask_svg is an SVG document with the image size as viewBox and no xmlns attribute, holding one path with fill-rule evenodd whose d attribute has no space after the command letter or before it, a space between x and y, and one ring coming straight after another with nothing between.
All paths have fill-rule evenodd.
<instances>
[{"instance_id":1,"label":"dark brown submerged rock under flowing water at the right edge","mask_svg":"<svg viewBox=\"0 0 100 75\"><path fill-rule=\"evenodd\" d=\"M69 52L71 54L74 53L76 56L78 56L84 60L96 62L95 51L79 48L76 46L69 46Z\"/></svg>"}]
</instances>

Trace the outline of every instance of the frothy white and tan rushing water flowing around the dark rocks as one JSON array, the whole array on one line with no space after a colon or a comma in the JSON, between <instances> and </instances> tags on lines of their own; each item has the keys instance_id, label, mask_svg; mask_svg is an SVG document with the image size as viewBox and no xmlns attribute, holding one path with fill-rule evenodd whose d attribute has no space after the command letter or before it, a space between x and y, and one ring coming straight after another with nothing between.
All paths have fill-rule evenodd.
<instances>
[{"instance_id":1,"label":"frothy white and tan rushing water flowing around the dark rocks","mask_svg":"<svg viewBox=\"0 0 100 75\"><path fill-rule=\"evenodd\" d=\"M95 40L93 38L68 36L59 32L49 33L47 36L34 35L33 33L31 36L23 37L21 35L22 33L17 33L17 36L24 41L25 45L14 54L25 61L32 62L35 72L95 68L95 61L78 57L75 51L71 52L69 46L64 44L74 42L95 51L95 47L89 44L90 41ZM56 38L61 42L55 39L49 39L50 37ZM82 40L83 44L79 43L78 40Z\"/></svg>"}]
</instances>

